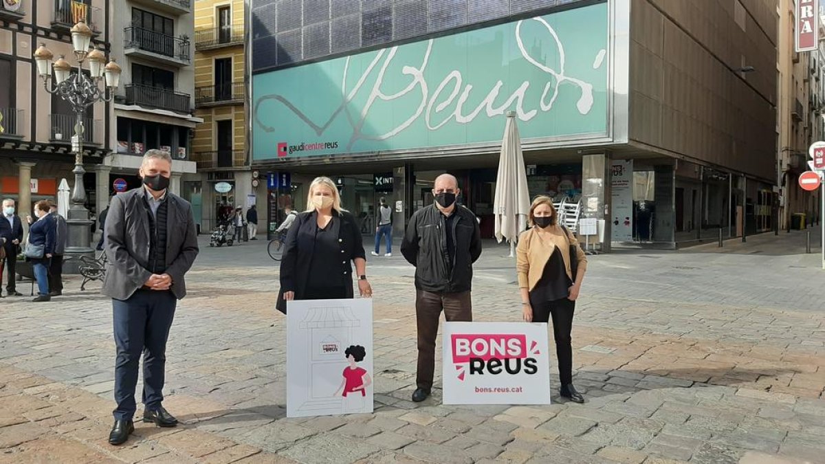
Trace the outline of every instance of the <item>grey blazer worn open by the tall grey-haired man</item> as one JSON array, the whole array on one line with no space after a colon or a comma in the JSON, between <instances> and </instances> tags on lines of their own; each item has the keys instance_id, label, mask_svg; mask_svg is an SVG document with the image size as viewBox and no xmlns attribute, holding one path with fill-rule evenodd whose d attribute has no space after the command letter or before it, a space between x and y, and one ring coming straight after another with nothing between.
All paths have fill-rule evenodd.
<instances>
[{"instance_id":1,"label":"grey blazer worn open by the tall grey-haired man","mask_svg":"<svg viewBox=\"0 0 825 464\"><path fill-rule=\"evenodd\" d=\"M152 276L147 270L150 232L144 195L144 187L117 195L106 214L103 294L115 300L128 300ZM198 237L189 201L171 192L166 201L166 273L172 277L172 294L180 300L186 296L184 275L198 255Z\"/></svg>"}]
</instances>

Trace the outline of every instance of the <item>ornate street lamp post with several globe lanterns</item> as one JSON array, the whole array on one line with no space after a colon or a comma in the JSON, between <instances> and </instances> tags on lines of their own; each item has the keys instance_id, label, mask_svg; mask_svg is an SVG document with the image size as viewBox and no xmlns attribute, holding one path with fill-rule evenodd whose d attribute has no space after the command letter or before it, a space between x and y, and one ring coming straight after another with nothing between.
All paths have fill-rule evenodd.
<instances>
[{"instance_id":1,"label":"ornate street lamp post with several globe lanterns","mask_svg":"<svg viewBox=\"0 0 825 464\"><path fill-rule=\"evenodd\" d=\"M97 47L91 45L92 30L82 19L72 27L72 46L74 56L78 60L78 72L72 73L72 65L60 56L52 64L54 54L45 44L35 51L34 58L43 87L46 92L56 93L71 105L75 115L74 135L72 137L72 151L74 152L74 189L72 191L72 206L68 210L68 244L66 254L75 257L93 256L91 245L89 211L86 208L86 188L83 185L83 113L87 107L96 102L111 102L115 97L115 88L120 82L120 66L112 59L106 63L106 55ZM82 72L83 63L88 64L89 77ZM54 86L50 85L51 71L54 70ZM104 80L104 88L100 88ZM73 262L72 268L79 263Z\"/></svg>"}]
</instances>

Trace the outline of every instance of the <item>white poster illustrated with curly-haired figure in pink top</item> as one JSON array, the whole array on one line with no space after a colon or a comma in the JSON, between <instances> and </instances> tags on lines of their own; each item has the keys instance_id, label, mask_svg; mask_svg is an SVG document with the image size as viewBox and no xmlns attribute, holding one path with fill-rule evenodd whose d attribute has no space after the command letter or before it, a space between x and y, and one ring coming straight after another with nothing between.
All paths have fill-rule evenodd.
<instances>
[{"instance_id":1,"label":"white poster illustrated with curly-haired figure in pink top","mask_svg":"<svg viewBox=\"0 0 825 464\"><path fill-rule=\"evenodd\" d=\"M372 412L372 300L286 302L286 416Z\"/></svg>"}]
</instances>

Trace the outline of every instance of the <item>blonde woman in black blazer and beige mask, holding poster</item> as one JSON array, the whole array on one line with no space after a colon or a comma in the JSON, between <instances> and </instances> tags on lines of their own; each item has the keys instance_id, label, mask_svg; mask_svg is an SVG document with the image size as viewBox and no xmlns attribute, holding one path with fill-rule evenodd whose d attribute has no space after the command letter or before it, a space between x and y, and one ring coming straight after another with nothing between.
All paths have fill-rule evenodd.
<instances>
[{"instance_id":1,"label":"blonde woman in black blazer and beige mask, holding poster","mask_svg":"<svg viewBox=\"0 0 825 464\"><path fill-rule=\"evenodd\" d=\"M315 178L309 186L307 211L295 218L286 234L277 309L286 314L290 300L352 298L352 263L359 293L372 296L355 217L342 209L330 178Z\"/></svg>"}]
</instances>

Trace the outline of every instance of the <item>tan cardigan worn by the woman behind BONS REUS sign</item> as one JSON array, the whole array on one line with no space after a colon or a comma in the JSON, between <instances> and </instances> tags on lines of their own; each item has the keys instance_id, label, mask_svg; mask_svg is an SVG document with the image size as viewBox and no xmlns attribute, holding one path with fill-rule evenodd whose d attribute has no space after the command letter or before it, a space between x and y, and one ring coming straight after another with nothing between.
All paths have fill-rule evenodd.
<instances>
[{"instance_id":1,"label":"tan cardigan worn by the woman behind BONS REUS sign","mask_svg":"<svg viewBox=\"0 0 825 464\"><path fill-rule=\"evenodd\" d=\"M576 245L576 253L578 257L578 273L587 270L587 255L578 246L578 240L573 234L568 236L547 234L550 242L554 246L543 243L539 237L537 230L534 228L522 232L518 239L518 246L516 247L516 274L518 275L519 288L527 288L533 290L535 284L539 283L541 274L544 272L544 264L553 256L556 248L562 254L564 260L564 268L567 270L568 277L573 280L573 272L570 271L570 247L569 245Z\"/></svg>"}]
</instances>

